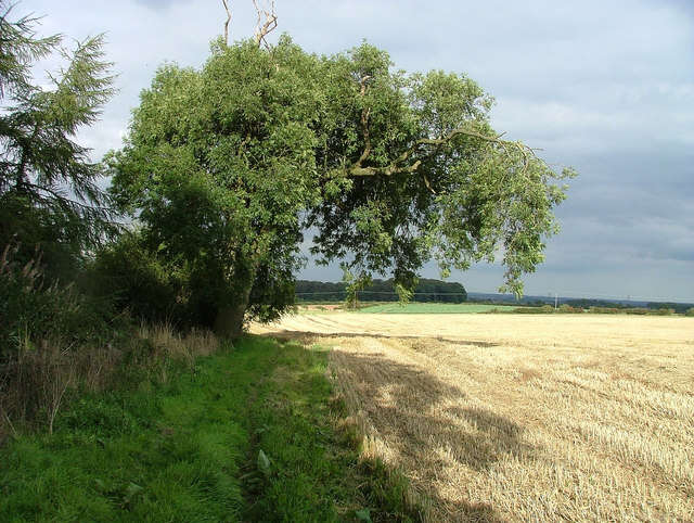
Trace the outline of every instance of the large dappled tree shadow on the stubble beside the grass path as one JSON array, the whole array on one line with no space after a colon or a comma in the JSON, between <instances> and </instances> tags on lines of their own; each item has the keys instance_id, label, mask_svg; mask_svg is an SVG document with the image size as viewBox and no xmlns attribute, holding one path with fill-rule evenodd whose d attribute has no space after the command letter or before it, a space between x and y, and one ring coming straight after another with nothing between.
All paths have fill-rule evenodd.
<instances>
[{"instance_id":1,"label":"large dappled tree shadow on the stubble beside the grass path","mask_svg":"<svg viewBox=\"0 0 694 523\"><path fill-rule=\"evenodd\" d=\"M331 358L369 435L385 445L389 464L433 501L435 520L503 521L493 507L468 502L461 493L471 475L484 474L502 458L534 459L522 426L465 407L463 390L415 366L338 348Z\"/></svg>"}]
</instances>

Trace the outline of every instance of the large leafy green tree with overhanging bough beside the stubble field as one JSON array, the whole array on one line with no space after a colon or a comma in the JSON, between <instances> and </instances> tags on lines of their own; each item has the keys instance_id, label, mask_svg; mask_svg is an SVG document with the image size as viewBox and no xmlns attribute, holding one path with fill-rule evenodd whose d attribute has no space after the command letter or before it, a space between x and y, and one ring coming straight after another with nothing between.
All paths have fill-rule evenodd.
<instances>
[{"instance_id":1,"label":"large leafy green tree with overhanging bough beside the stubble field","mask_svg":"<svg viewBox=\"0 0 694 523\"><path fill-rule=\"evenodd\" d=\"M142 93L113 194L222 334L291 305L307 230L362 279L407 289L430 259L446 273L500 256L519 293L571 173L503 140L491 105L465 76L395 72L365 43L318 56L286 36L220 39L202 69L166 65Z\"/></svg>"}]
</instances>

